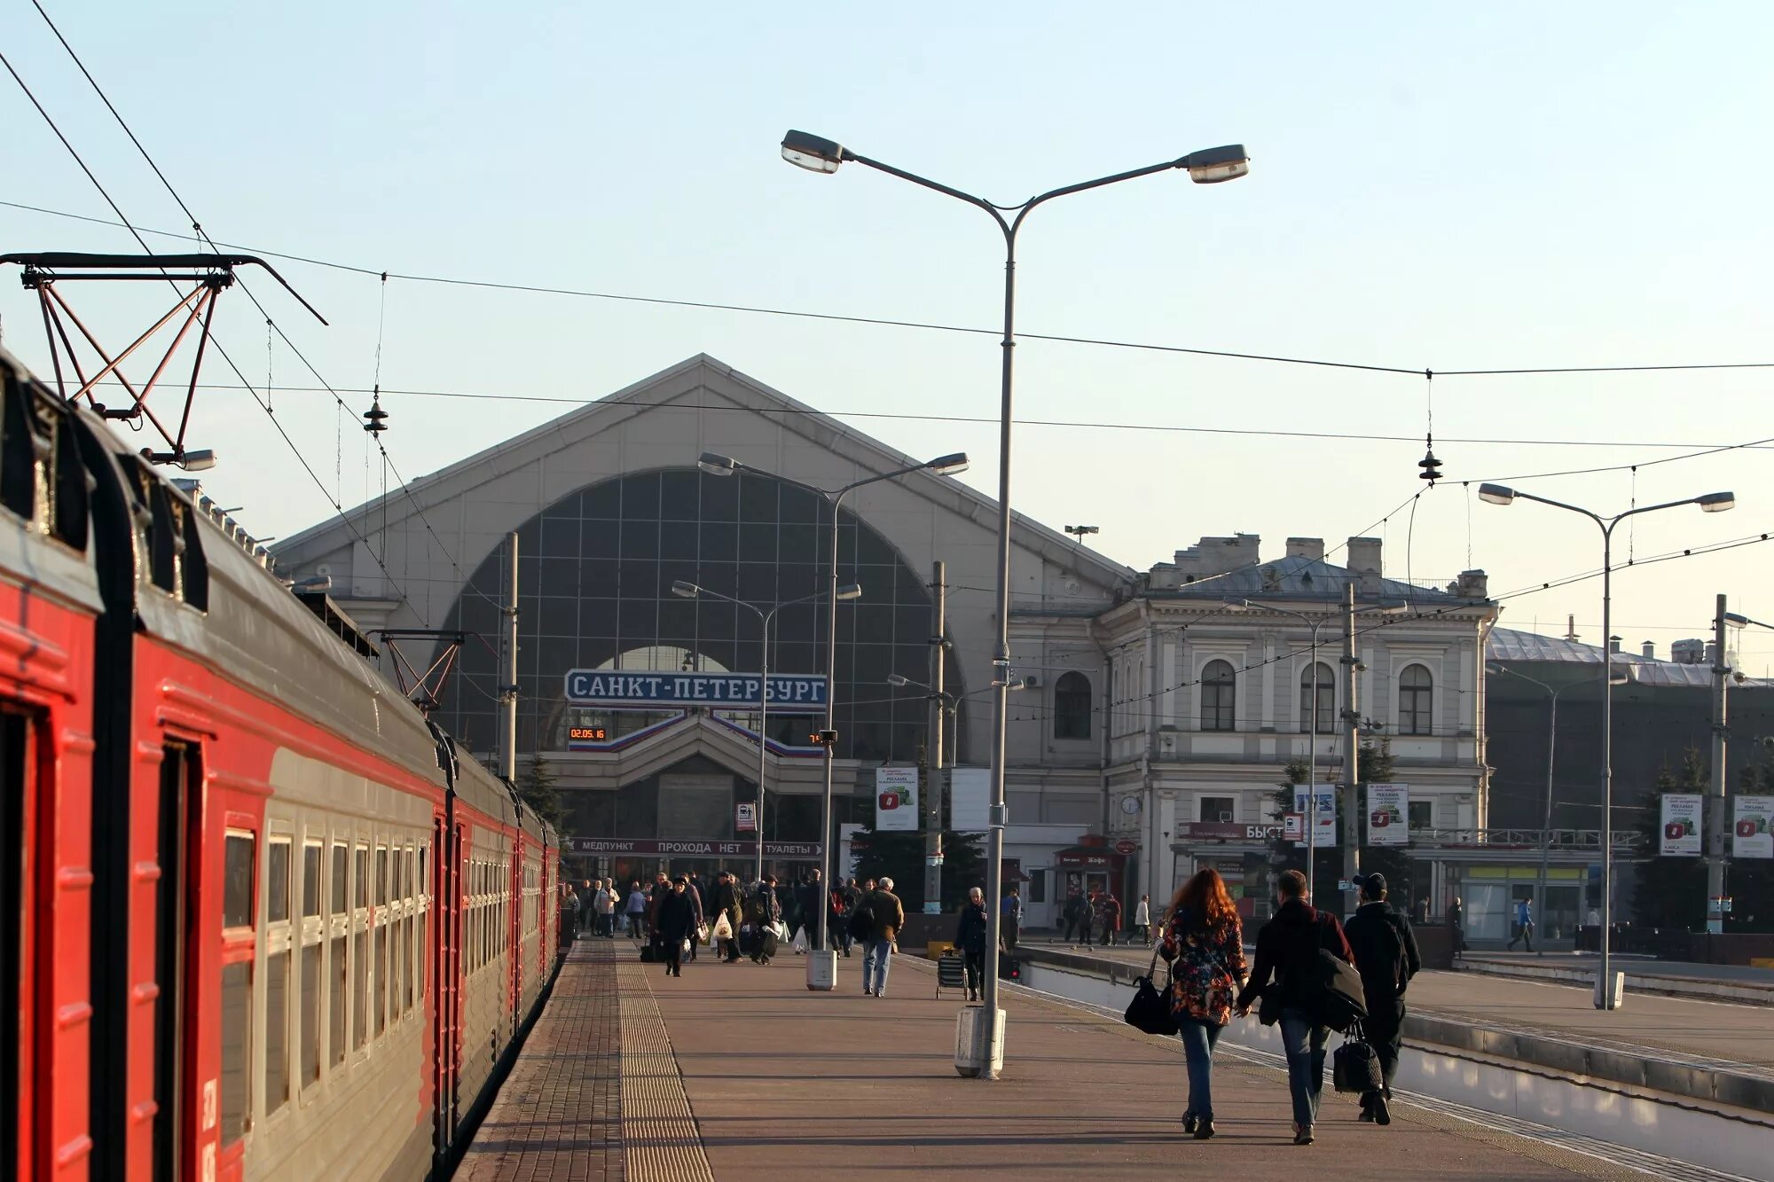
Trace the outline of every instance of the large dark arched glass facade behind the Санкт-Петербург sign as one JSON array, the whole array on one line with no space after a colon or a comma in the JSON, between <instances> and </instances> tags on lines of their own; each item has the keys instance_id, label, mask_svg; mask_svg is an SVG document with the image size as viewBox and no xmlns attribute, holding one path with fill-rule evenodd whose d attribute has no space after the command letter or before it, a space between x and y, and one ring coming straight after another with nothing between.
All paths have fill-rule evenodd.
<instances>
[{"instance_id":1,"label":"large dark arched glass facade behind the \u0421\u0430\u043d\u043a\u0442-\u041f\u0435\u0442\u0435\u0440\u0431\u0443\u0440\u0433 sign","mask_svg":"<svg viewBox=\"0 0 1774 1182\"><path fill-rule=\"evenodd\" d=\"M518 754L566 747L568 726L607 724L617 737L662 717L569 708L569 669L660 667L662 653L671 671L759 669L757 614L713 595L679 598L671 589L678 580L763 611L814 596L775 614L770 671L825 673L828 554L825 499L750 472L635 472L553 502L518 527ZM910 761L928 703L887 678L928 680L928 577L848 511L839 516L837 568L841 582L862 586L860 600L837 605L837 756ZM444 623L475 635L435 717L477 753L497 747L504 586L504 550L495 548ZM953 660L946 680L949 692L962 692ZM965 726L965 705L960 715ZM804 745L807 731L805 715L770 719L773 742Z\"/></svg>"}]
</instances>

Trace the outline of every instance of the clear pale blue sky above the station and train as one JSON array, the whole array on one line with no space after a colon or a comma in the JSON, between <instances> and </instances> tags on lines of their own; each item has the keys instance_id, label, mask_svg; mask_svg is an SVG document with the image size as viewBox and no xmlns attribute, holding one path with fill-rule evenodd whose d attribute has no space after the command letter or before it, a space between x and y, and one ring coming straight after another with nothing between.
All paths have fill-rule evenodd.
<instances>
[{"instance_id":1,"label":"clear pale blue sky above the station and train","mask_svg":"<svg viewBox=\"0 0 1774 1182\"><path fill-rule=\"evenodd\" d=\"M1219 7L1221 11L1213 11ZM995 201L1244 142L1251 176L1160 174L1068 197L1020 247L1025 332L1410 369L1774 360L1763 4L593 5L55 4L89 69L222 241L351 263L607 293L992 327L1002 248L976 209L862 167L779 160L804 128ZM28 0L0 46L124 213L181 215ZM0 199L110 217L11 78ZM170 240L154 240L169 247ZM121 229L0 206L4 250L131 250ZM997 344L986 335L390 282L280 264L332 319L255 291L341 389L591 399L697 351L926 456L965 449L997 488ZM7 348L46 351L28 293L0 286ZM106 295L133 334L163 295ZM254 382L314 385L250 305L218 337ZM232 380L222 366L213 380ZM1593 525L1480 504L1462 481L1605 511L1737 492L1724 515L1621 527L1634 557L1774 531L1767 449L1653 463L1664 444L1774 437L1774 369L1440 376L1027 341L1018 417L1325 431L1330 440L1024 426L1017 509L1095 524L1146 568L1201 534L1385 540L1391 575L1490 573L1494 593L1600 564ZM1417 488L1433 385L1449 477ZM376 481L355 419L279 392L277 417L346 504ZM431 472L564 405L394 394L387 445ZM243 392L199 399L204 483L261 534L330 513ZM1458 442L1501 440L1501 442ZM1563 440L1561 445L1536 440ZM1607 442L1618 445L1575 445ZM1641 465L1637 472L1547 476ZM1409 545L1407 545L1409 543ZM465 563L475 556L459 556ZM1774 543L1623 571L1616 632L1659 653L1726 591L1774 621ZM1504 623L1600 639L1597 580L1506 600ZM1774 662L1774 634L1744 664Z\"/></svg>"}]
</instances>

